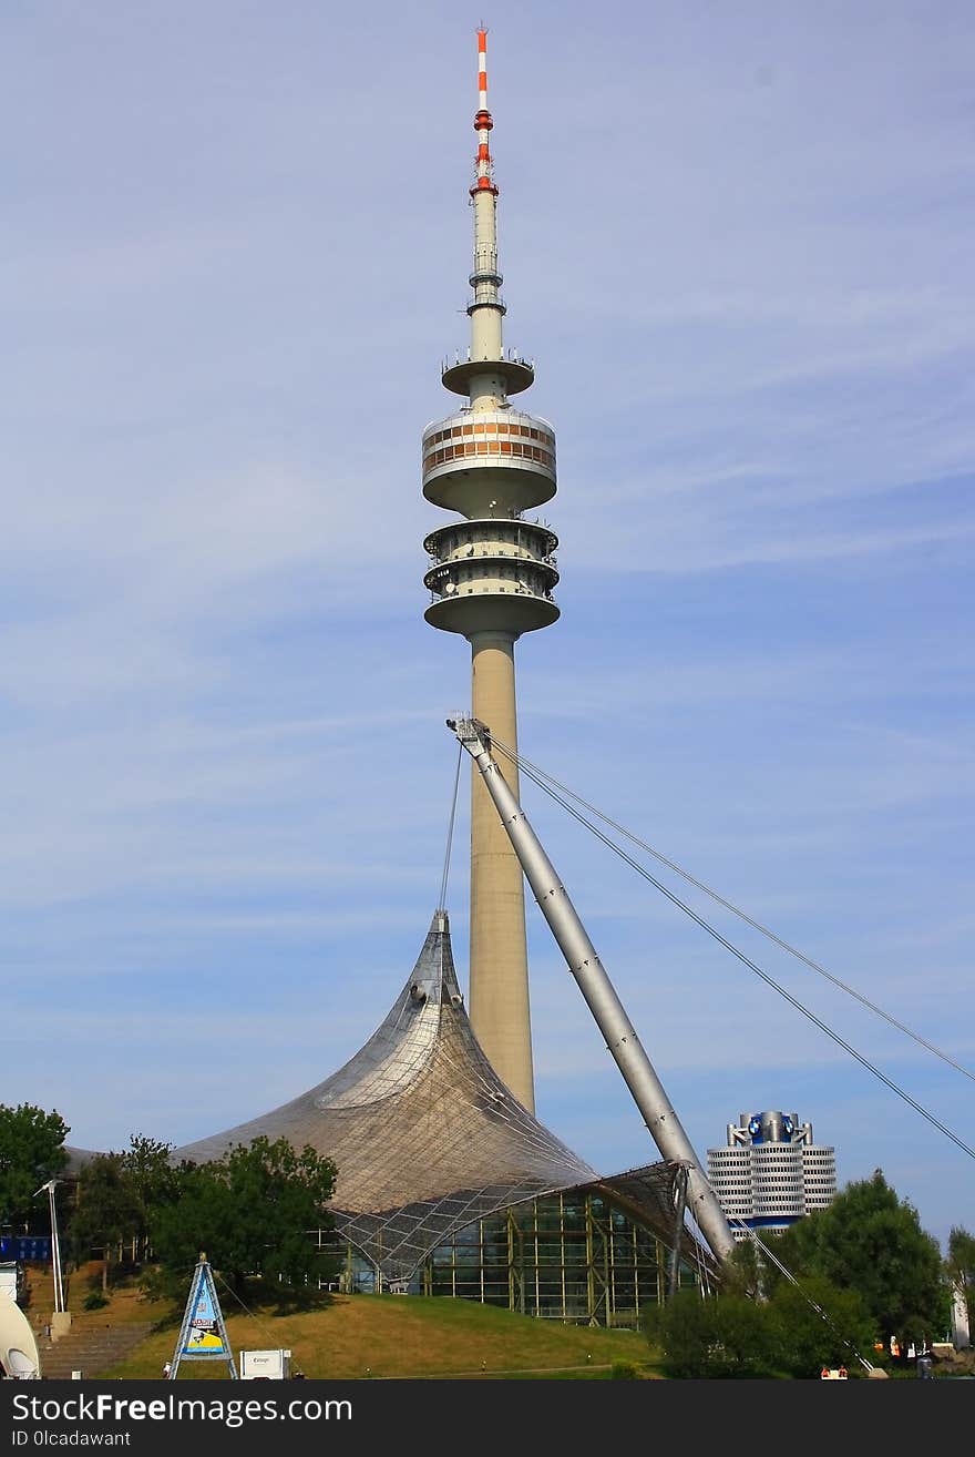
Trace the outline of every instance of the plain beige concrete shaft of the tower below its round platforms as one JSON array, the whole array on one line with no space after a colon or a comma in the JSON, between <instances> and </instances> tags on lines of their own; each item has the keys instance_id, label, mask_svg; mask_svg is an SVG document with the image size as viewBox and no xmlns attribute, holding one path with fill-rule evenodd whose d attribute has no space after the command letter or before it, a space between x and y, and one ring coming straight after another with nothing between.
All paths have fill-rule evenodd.
<instances>
[{"instance_id":1,"label":"plain beige concrete shaft of the tower below its round platforms","mask_svg":"<svg viewBox=\"0 0 975 1457\"><path fill-rule=\"evenodd\" d=\"M505 632L470 638L473 717L517 750L514 647ZM517 797L517 766L502 759L502 774ZM534 1113L524 874L480 774L470 788L470 1021L492 1067Z\"/></svg>"}]
</instances>

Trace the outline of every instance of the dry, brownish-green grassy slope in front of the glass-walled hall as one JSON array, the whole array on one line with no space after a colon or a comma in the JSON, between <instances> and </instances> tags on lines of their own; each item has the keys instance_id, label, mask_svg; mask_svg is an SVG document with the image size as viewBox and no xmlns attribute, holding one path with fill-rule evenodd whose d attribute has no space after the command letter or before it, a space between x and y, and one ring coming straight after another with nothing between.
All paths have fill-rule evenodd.
<instances>
[{"instance_id":1,"label":"dry, brownish-green grassy slope in front of the glass-walled hall","mask_svg":"<svg viewBox=\"0 0 975 1457\"><path fill-rule=\"evenodd\" d=\"M234 1313L226 1294L221 1304L234 1355L242 1349L285 1348L292 1370L310 1378L607 1380L614 1367L617 1375L659 1375L637 1332L563 1326L464 1300L332 1295L323 1308L287 1316L266 1310ZM80 1310L74 1326L89 1320L154 1323L127 1359L103 1372L108 1378L156 1378L173 1355L179 1323L166 1321L164 1308L141 1300L135 1285L115 1289L103 1310ZM223 1380L226 1367L185 1361L179 1368L183 1378Z\"/></svg>"}]
</instances>

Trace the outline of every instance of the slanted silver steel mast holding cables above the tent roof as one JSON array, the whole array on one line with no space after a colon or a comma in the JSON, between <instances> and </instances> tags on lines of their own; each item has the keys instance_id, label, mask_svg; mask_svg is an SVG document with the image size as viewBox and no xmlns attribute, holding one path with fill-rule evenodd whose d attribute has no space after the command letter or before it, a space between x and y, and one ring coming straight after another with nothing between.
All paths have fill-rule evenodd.
<instances>
[{"instance_id":1,"label":"slanted silver steel mast holding cables above the tent roof","mask_svg":"<svg viewBox=\"0 0 975 1457\"><path fill-rule=\"evenodd\" d=\"M541 914L552 928L559 950L565 956L600 1032L605 1037L607 1048L633 1094L653 1142L664 1158L687 1167L687 1208L715 1257L725 1263L735 1249L735 1238L725 1218L725 1211L565 886L490 752L489 728L477 718L448 718L447 726L454 730L480 769L485 787L495 801Z\"/></svg>"}]
</instances>

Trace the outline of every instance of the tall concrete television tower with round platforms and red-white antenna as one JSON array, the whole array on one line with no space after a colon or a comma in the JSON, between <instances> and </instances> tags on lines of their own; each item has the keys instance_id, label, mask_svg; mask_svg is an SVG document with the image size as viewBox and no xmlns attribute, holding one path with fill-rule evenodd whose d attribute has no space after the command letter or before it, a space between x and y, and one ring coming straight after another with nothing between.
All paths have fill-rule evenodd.
<instances>
[{"instance_id":1,"label":"tall concrete television tower with round platforms and red-white antenna","mask_svg":"<svg viewBox=\"0 0 975 1457\"><path fill-rule=\"evenodd\" d=\"M442 383L467 396L455 414L423 431L423 495L454 520L423 542L432 565L426 621L460 632L471 648L471 714L502 743L518 747L514 645L522 632L559 616L556 535L524 513L556 492L556 440L546 420L511 405L534 380L534 366L502 344L505 305L498 270L498 186L489 137L488 32L477 31L477 159L470 188L474 268L470 348L442 369ZM521 864L488 794L471 775L470 1023L515 1097L534 1112L528 953ZM504 775L515 797L518 772Z\"/></svg>"}]
</instances>

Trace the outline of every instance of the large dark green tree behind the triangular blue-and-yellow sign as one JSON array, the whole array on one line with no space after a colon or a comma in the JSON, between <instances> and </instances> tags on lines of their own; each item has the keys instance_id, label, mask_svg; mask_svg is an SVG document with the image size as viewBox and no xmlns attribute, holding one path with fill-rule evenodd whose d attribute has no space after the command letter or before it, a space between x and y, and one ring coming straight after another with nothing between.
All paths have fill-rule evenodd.
<instances>
[{"instance_id":1,"label":"large dark green tree behind the triangular blue-and-yellow sign","mask_svg":"<svg viewBox=\"0 0 975 1457\"><path fill-rule=\"evenodd\" d=\"M185 1288L201 1250L240 1298L252 1278L282 1304L304 1298L306 1282L317 1291L336 1266L335 1249L320 1250L313 1233L335 1227L326 1208L335 1174L330 1158L310 1145L298 1152L287 1138L255 1138L221 1160L183 1164L178 1201L150 1212L169 1291Z\"/></svg>"}]
</instances>

